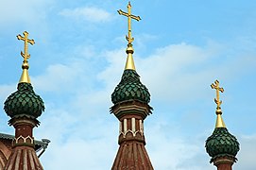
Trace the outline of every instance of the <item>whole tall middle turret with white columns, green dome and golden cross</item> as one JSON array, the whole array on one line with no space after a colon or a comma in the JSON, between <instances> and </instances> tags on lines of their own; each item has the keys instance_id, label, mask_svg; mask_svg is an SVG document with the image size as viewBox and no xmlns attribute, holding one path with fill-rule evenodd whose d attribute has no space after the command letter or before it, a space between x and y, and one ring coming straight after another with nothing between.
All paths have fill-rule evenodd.
<instances>
[{"instance_id":1,"label":"whole tall middle turret with white columns, green dome and golden cross","mask_svg":"<svg viewBox=\"0 0 256 170\"><path fill-rule=\"evenodd\" d=\"M145 150L144 134L144 121L152 110L148 105L150 93L140 81L132 57L134 38L131 37L131 19L140 21L141 18L131 14L130 3L128 3L128 13L121 9L118 13L128 17L128 36L126 36L128 58L121 81L111 94L111 101L114 104L111 113L117 117L120 124L118 139L120 146L111 169L152 170L153 166Z\"/></svg>"}]
</instances>

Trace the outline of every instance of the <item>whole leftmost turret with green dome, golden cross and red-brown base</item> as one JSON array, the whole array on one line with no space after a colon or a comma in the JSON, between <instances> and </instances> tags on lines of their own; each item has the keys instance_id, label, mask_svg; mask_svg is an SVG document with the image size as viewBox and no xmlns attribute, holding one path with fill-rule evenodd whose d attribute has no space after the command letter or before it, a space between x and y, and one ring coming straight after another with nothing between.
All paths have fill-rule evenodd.
<instances>
[{"instance_id":1,"label":"whole leftmost turret with green dome, golden cross and red-brown base","mask_svg":"<svg viewBox=\"0 0 256 170\"><path fill-rule=\"evenodd\" d=\"M34 44L34 40L28 39L25 31L24 37L18 35L18 40L25 42L24 53L21 52L23 61L23 74L18 83L18 90L11 93L5 101L4 110L10 117L9 125L15 128L15 138L9 160L5 166L6 170L35 169L43 170L38 156L35 152L35 141L33 127L39 126L37 118L44 110L43 99L33 91L28 76L28 43Z\"/></svg>"}]
</instances>

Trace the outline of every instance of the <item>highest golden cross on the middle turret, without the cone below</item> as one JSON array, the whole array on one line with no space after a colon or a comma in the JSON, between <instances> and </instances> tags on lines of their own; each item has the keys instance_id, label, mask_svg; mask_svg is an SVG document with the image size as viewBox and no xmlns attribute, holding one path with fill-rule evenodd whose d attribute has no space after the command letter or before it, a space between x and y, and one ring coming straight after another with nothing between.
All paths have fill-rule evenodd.
<instances>
[{"instance_id":1,"label":"highest golden cross on the middle turret, without the cone below","mask_svg":"<svg viewBox=\"0 0 256 170\"><path fill-rule=\"evenodd\" d=\"M131 44L131 42L134 41L134 38L131 37L131 19L134 19L134 20L137 20L137 21L140 21L141 20L141 17L140 16L135 16L135 15L132 15L131 14L131 5L130 5L130 2L128 2L128 13L127 12L124 12L123 10L119 9L117 10L118 13L120 15L124 15L124 16L127 16L128 17L128 36L126 36L126 39L128 41L128 44Z\"/></svg>"}]
</instances>

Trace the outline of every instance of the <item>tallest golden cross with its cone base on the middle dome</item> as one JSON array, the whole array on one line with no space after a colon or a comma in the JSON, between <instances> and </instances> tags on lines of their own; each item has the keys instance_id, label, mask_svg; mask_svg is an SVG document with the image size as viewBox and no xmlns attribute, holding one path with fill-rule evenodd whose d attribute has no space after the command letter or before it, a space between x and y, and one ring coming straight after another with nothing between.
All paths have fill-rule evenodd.
<instances>
[{"instance_id":1,"label":"tallest golden cross with its cone base on the middle dome","mask_svg":"<svg viewBox=\"0 0 256 170\"><path fill-rule=\"evenodd\" d=\"M132 54L134 53L134 49L132 47L132 42L134 41L134 38L131 36L131 19L140 21L141 17L131 14L130 2L128 2L128 12L124 12L121 9L119 9L117 11L120 15L124 15L124 16L128 17L128 36L126 36L126 39L128 41L128 47L126 50L126 52L128 54L128 58L127 58L125 70L135 70L135 64L134 64L134 60L132 58Z\"/></svg>"}]
</instances>

